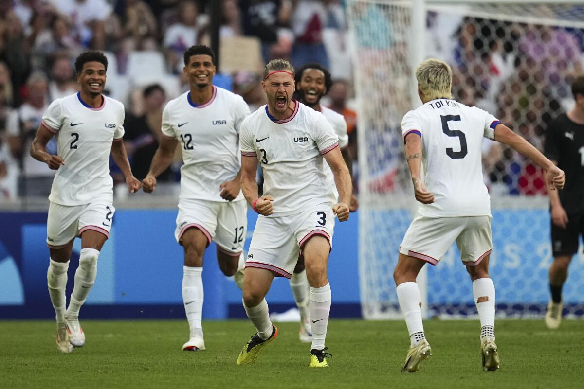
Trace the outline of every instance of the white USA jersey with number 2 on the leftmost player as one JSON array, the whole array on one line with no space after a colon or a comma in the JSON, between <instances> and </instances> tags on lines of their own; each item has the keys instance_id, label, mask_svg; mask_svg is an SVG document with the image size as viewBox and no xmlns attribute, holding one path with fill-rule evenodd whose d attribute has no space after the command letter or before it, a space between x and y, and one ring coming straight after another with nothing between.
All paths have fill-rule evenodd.
<instances>
[{"instance_id":1,"label":"white USA jersey with number 2 on the leftmost player","mask_svg":"<svg viewBox=\"0 0 584 389\"><path fill-rule=\"evenodd\" d=\"M107 96L99 108L85 104L80 93L48 106L43 125L54 132L57 155L65 161L55 173L51 202L82 205L97 197L113 198L109 156L112 142L124 135L124 116L124 105Z\"/></svg>"}]
</instances>

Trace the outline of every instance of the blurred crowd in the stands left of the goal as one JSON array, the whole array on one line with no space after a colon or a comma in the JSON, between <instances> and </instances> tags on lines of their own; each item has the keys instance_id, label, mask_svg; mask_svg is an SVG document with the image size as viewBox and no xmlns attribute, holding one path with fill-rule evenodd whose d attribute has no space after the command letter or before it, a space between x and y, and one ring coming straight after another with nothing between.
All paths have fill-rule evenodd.
<instances>
[{"instance_id":1,"label":"blurred crowd in the stands left of the goal","mask_svg":"<svg viewBox=\"0 0 584 389\"><path fill-rule=\"evenodd\" d=\"M54 171L29 155L48 104L77 92L73 62L104 51L106 94L126 106L124 142L144 178L161 133L166 101L188 89L182 53L210 45L210 0L6 0L0 2L0 199L45 196ZM345 13L335 0L221 0L221 77L253 109L265 104L263 64L319 62L335 80L330 104L347 115L350 94ZM354 136L353 136L354 146ZM56 152L53 141L47 148ZM181 156L160 178L178 180ZM121 177L112 164L114 179Z\"/></svg>"}]
</instances>

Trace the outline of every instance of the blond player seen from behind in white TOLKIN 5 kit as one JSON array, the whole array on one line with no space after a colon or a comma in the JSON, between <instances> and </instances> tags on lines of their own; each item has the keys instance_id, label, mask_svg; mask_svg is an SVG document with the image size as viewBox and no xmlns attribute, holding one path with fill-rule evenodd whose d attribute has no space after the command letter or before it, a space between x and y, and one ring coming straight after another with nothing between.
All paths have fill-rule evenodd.
<instances>
[{"instance_id":1,"label":"blond player seen from behind in white TOLKIN 5 kit","mask_svg":"<svg viewBox=\"0 0 584 389\"><path fill-rule=\"evenodd\" d=\"M452 72L444 62L426 59L416 68L416 78L423 106L404 116L402 134L415 197L422 204L399 247L394 271L411 345L402 372L416 372L431 355L416 276L426 262L436 265L455 241L481 321L482 367L494 371L500 362L495 286L489 278L491 206L482 181L482 138L505 143L537 163L552 187L564 186L564 172L493 115L452 100Z\"/></svg>"}]
</instances>

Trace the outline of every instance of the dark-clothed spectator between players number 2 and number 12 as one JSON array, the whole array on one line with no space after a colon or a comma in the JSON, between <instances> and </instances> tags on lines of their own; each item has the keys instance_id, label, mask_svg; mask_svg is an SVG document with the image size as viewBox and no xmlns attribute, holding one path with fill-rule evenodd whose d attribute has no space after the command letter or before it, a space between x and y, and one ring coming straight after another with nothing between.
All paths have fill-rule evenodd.
<instances>
[{"instance_id":1,"label":"dark-clothed spectator between players number 2 and number 12","mask_svg":"<svg viewBox=\"0 0 584 389\"><path fill-rule=\"evenodd\" d=\"M162 109L166 102L166 94L162 86L152 84L144 88L144 111L141 115L126 115L124 122L124 142L128 154L131 155L131 166L134 176L138 180L143 180L148 174L150 162L154 153L158 149L162 136ZM158 182L174 181L175 175L172 170L166 169Z\"/></svg>"}]
</instances>

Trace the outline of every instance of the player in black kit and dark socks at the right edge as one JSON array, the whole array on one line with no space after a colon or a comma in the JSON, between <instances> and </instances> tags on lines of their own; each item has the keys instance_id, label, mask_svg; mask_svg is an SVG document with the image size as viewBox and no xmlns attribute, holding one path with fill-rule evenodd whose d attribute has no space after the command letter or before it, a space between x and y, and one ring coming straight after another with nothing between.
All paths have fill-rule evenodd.
<instances>
[{"instance_id":1,"label":"player in black kit and dark socks at the right edge","mask_svg":"<svg viewBox=\"0 0 584 389\"><path fill-rule=\"evenodd\" d=\"M576 105L559 115L547 128L545 156L566 172L563 191L547 185L550 195L551 241L554 262L550 266L551 300L545 313L548 328L562 320L562 286L568 265L578 251L578 236L584 237L584 75L572 83Z\"/></svg>"}]
</instances>

